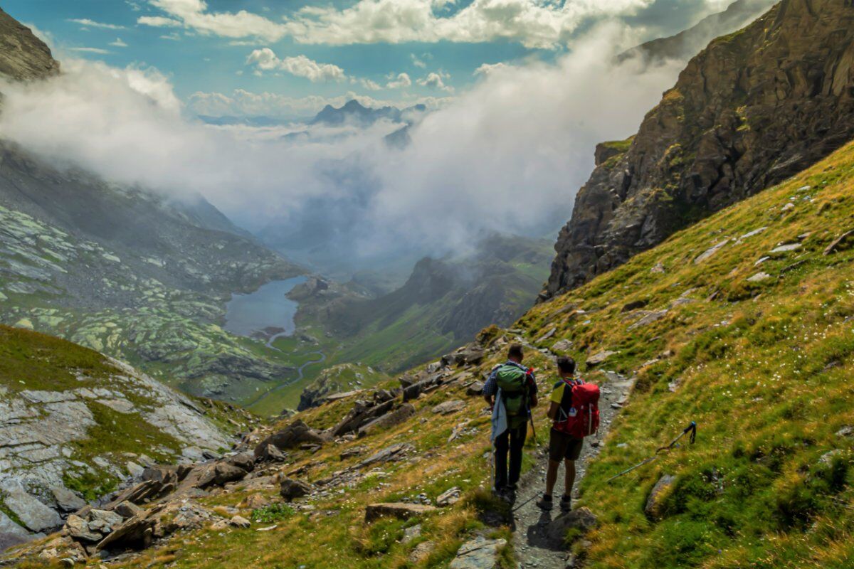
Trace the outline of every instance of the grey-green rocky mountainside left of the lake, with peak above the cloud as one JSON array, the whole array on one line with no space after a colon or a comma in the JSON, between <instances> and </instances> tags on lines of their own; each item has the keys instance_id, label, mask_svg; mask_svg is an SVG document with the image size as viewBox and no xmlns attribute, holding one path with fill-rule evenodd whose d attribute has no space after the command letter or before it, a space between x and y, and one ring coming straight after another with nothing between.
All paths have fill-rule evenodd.
<instances>
[{"instance_id":1,"label":"grey-green rocky mountainside left of the lake, with peak above the cloud","mask_svg":"<svg viewBox=\"0 0 854 569\"><path fill-rule=\"evenodd\" d=\"M5 13L0 73L56 73ZM58 334L197 395L247 398L295 374L225 333L225 302L302 272L201 197L176 202L47 163L0 140L0 322Z\"/></svg>"}]
</instances>

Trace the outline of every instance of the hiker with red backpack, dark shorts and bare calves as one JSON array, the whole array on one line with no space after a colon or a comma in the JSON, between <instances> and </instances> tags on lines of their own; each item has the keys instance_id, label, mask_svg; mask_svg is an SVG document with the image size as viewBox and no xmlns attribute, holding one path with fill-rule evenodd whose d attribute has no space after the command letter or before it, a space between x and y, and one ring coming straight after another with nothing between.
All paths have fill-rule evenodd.
<instances>
[{"instance_id":1,"label":"hiker with red backpack, dark shorts and bare calves","mask_svg":"<svg viewBox=\"0 0 854 569\"><path fill-rule=\"evenodd\" d=\"M576 460L582 454L584 437L599 429L600 393L598 386L576 377L576 363L571 357L558 358L558 374L560 380L554 384L547 413L553 425L548 441L546 492L536 505L543 510L552 509L552 491L563 461L566 473L560 510L569 512L572 508L572 485L576 481Z\"/></svg>"}]
</instances>

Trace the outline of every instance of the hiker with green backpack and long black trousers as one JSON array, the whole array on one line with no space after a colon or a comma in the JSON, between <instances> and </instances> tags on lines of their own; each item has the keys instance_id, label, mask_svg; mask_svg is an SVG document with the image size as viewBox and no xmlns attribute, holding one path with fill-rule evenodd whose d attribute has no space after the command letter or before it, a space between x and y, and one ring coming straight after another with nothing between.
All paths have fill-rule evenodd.
<instances>
[{"instance_id":1,"label":"hiker with green backpack and long black trousers","mask_svg":"<svg viewBox=\"0 0 854 569\"><path fill-rule=\"evenodd\" d=\"M494 492L510 500L522 473L531 409L537 404L534 372L522 365L523 359L522 345L512 344L507 362L496 366L483 385L483 397L493 408Z\"/></svg>"}]
</instances>

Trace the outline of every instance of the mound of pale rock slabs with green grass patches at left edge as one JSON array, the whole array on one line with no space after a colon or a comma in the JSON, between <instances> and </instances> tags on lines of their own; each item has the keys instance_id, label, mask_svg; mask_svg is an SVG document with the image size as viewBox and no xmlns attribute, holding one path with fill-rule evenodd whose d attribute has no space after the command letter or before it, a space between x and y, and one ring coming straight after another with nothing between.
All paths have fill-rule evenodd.
<instances>
[{"instance_id":1,"label":"mound of pale rock slabs with green grass patches at left edge","mask_svg":"<svg viewBox=\"0 0 854 569\"><path fill-rule=\"evenodd\" d=\"M0 549L50 531L155 462L231 446L229 414L135 369L43 334L0 326ZM183 457L183 458L182 458ZM84 500L85 498L85 500ZM20 525L19 525L20 524Z\"/></svg>"}]
</instances>

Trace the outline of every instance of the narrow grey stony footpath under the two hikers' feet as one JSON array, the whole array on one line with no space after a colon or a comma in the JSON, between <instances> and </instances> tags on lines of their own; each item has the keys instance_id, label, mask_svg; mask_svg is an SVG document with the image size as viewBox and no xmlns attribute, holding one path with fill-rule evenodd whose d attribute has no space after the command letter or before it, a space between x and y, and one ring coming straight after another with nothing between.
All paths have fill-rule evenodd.
<instances>
[{"instance_id":1,"label":"narrow grey stony footpath under the two hikers' feet","mask_svg":"<svg viewBox=\"0 0 854 569\"><path fill-rule=\"evenodd\" d=\"M619 412L619 404L631 391L633 381L623 378L617 374L606 373L608 380L600 385L602 398L600 400L600 432L599 438L605 438L611 428L611 421ZM537 425L537 427L541 427ZM541 428L546 427L543 425ZM573 496L576 495L578 485L581 483L584 473L587 472L588 462L599 454L600 448L594 446L596 438L587 438L584 441L581 459L576 461L576 484ZM537 464L524 475L519 485L516 505L518 508L514 514L516 530L513 534L514 546L519 560L519 566L523 568L536 567L537 569L563 569L566 566L568 552L563 543L555 543L547 537L548 524L559 517L559 496L564 485L564 467L561 465L558 473L558 483L555 485L554 497L555 507L552 512L543 512L537 508L536 501L545 489L546 466L548 462L547 449L538 452Z\"/></svg>"}]
</instances>

